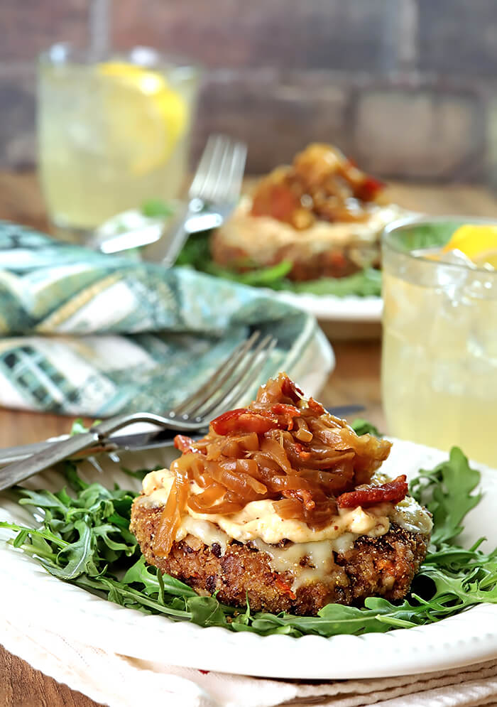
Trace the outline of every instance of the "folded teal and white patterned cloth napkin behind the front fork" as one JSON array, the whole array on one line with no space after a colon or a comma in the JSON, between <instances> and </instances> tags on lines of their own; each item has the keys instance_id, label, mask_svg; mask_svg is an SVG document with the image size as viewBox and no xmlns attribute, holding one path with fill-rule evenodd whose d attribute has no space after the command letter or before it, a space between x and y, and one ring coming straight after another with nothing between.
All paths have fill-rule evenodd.
<instances>
[{"instance_id":1,"label":"folded teal and white patterned cloth napkin behind the front fork","mask_svg":"<svg viewBox=\"0 0 497 707\"><path fill-rule=\"evenodd\" d=\"M260 382L294 374L320 338L312 317L253 288L0 222L0 405L160 413L253 329L278 338Z\"/></svg>"}]
</instances>

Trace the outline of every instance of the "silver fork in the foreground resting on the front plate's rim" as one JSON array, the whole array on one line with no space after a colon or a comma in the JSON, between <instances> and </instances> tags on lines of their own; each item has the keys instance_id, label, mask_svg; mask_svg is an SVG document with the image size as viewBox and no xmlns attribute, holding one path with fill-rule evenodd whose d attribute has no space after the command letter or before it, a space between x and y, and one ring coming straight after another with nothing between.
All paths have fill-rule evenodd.
<instances>
[{"instance_id":1,"label":"silver fork in the foreground resting on the front plate's rim","mask_svg":"<svg viewBox=\"0 0 497 707\"><path fill-rule=\"evenodd\" d=\"M115 416L93 426L86 433L55 442L50 448L0 470L0 490L9 488L82 450L93 446L106 446L112 443L112 433L136 422L148 422L182 432L194 432L207 427L211 419L229 409L257 382L261 369L276 343L277 340L272 335L261 338L260 332L253 332L246 341L235 348L200 389L174 409L164 415L138 412Z\"/></svg>"}]
</instances>

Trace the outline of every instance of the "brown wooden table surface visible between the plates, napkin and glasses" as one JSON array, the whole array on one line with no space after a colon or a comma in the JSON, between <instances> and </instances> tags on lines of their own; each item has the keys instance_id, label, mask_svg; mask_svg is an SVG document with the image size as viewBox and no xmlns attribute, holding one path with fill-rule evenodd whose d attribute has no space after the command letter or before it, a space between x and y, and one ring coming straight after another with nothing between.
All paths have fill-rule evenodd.
<instances>
[{"instance_id":1,"label":"brown wooden table surface visible between the plates, napkin and glasses","mask_svg":"<svg viewBox=\"0 0 497 707\"><path fill-rule=\"evenodd\" d=\"M388 194L396 203L432 214L497 216L496 200L480 188L395 184L388 188ZM0 219L48 230L33 174L0 173ZM365 407L361 416L386 431L381 410L379 339L337 340L333 347L337 365L320 396L322 402L327 406L361 403ZM0 409L0 447L38 441L69 428L67 417ZM0 647L0 705L90 707L95 703Z\"/></svg>"}]
</instances>

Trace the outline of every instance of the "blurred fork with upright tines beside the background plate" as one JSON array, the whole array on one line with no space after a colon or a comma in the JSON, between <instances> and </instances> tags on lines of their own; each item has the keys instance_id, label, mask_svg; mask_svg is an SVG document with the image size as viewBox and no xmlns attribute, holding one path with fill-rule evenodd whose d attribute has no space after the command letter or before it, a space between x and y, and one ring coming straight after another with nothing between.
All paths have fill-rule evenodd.
<instances>
[{"instance_id":1,"label":"blurred fork with upright tines beside the background plate","mask_svg":"<svg viewBox=\"0 0 497 707\"><path fill-rule=\"evenodd\" d=\"M246 153L244 143L226 135L209 137L188 190L187 206L168 233L144 249L146 260L170 267L190 233L222 225L239 198Z\"/></svg>"}]
</instances>

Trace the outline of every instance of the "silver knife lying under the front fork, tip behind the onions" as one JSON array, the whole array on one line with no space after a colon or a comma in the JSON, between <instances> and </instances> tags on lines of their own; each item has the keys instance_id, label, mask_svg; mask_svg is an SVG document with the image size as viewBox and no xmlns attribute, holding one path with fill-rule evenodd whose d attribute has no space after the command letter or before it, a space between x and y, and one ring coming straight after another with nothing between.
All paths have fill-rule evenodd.
<instances>
[{"instance_id":1,"label":"silver knife lying under the front fork, tip behind the onions","mask_svg":"<svg viewBox=\"0 0 497 707\"><path fill-rule=\"evenodd\" d=\"M327 408L327 410L334 416L346 417L348 415L354 415L360 412L361 410L364 410L364 406L342 405ZM155 449L160 447L170 448L174 446L174 438L177 434L178 430L161 429L159 431L141 432L129 435L112 435L109 437L107 443L104 446L101 445L89 447L86 448L84 451L78 451L74 457L69 454L67 455L67 458L82 459L84 457L103 452L138 452L146 449ZM189 436L192 436L193 439L198 439L202 436L202 434ZM75 435L75 438L77 438L77 435ZM45 449L50 449L53 444L67 439L70 439L70 435L62 435L53 440L45 440L43 442L35 442L33 444L24 444L18 447L4 448L3 450L0 450L0 467L5 467L6 465L29 459L33 454L41 452ZM77 439L75 439L75 442L77 442ZM9 473L9 468L6 468L4 470L0 469L0 491L3 491L16 483L23 481L25 478L26 474L23 473L22 469L16 471L15 475Z\"/></svg>"}]
</instances>

